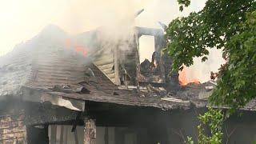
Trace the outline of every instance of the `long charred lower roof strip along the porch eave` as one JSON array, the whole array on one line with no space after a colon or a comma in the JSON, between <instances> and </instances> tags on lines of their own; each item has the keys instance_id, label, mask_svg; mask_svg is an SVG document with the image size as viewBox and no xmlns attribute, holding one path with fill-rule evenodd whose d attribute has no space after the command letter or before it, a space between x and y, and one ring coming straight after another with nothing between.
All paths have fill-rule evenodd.
<instances>
[{"instance_id":1,"label":"long charred lower roof strip along the porch eave","mask_svg":"<svg viewBox=\"0 0 256 144\"><path fill-rule=\"evenodd\" d=\"M169 101L159 97L143 98L131 94L130 90L120 90L117 94L106 94L102 91L92 91L90 94L77 94L77 93L63 93L49 89L42 89L37 87L23 87L24 90L34 90L39 95L48 95L55 98L68 99L75 102L107 102L114 103L123 106L144 106L154 107L162 110L173 110L173 109L189 109L191 106L190 102L187 101Z\"/></svg>"}]
</instances>

